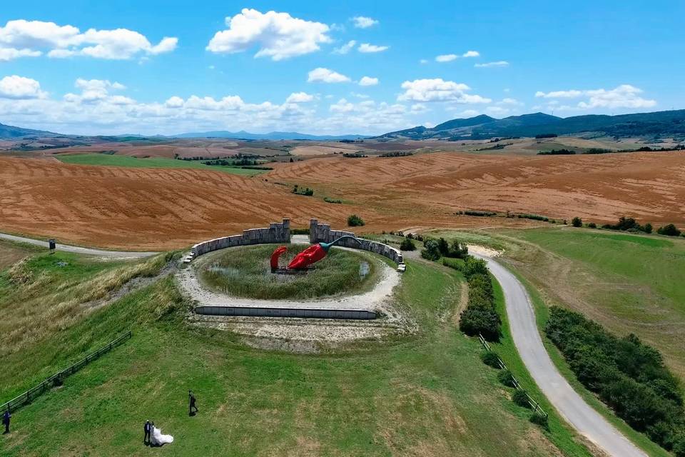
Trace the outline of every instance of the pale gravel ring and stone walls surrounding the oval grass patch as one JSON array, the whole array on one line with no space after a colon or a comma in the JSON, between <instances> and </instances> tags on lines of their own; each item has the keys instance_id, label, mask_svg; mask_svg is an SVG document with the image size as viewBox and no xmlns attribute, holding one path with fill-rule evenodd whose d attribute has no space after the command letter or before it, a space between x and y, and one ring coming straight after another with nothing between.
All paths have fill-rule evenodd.
<instances>
[{"instance_id":1,"label":"pale gravel ring and stone walls surrounding the oval grass patch","mask_svg":"<svg viewBox=\"0 0 685 457\"><path fill-rule=\"evenodd\" d=\"M197 243L184 258L186 268L178 273L183 292L193 302L191 321L238 333L253 346L307 352L331 344L411 331L412 326L397 310L393 296L401 274L390 265L402 263L402 253L377 241L357 238L360 243L355 243L345 239L338 247L375 259L377 281L362 293L306 300L245 298L211 290L198 274L201 263L198 258L209 253L230 252L227 250L258 244L330 243L341 236L356 238L355 233L333 230L329 224L320 224L317 219L310 221L309 236L291 235L290 220L283 219L265 228L247 229L241 234ZM381 261L379 256L390 262Z\"/></svg>"}]
</instances>

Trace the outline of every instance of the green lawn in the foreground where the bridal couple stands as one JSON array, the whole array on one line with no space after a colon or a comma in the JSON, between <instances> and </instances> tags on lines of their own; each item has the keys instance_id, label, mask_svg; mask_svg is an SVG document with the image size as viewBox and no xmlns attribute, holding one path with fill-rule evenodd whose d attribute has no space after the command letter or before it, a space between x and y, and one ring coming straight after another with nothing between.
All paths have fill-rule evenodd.
<instances>
[{"instance_id":1,"label":"green lawn in the foreground where the bridal couple stands","mask_svg":"<svg viewBox=\"0 0 685 457\"><path fill-rule=\"evenodd\" d=\"M17 411L0 452L153 454L159 450L141 443L150 418L176 438L163 448L167 455L552 455L481 363L479 343L455 329L450 314L461 283L456 272L409 263L398 294L422 326L417 336L302 356L245 348L230 333L186 326L167 278L22 356L0 358L24 373L56 371L133 328L130 341ZM15 382L0 379L3 397ZM193 418L188 388L198 396Z\"/></svg>"}]
</instances>

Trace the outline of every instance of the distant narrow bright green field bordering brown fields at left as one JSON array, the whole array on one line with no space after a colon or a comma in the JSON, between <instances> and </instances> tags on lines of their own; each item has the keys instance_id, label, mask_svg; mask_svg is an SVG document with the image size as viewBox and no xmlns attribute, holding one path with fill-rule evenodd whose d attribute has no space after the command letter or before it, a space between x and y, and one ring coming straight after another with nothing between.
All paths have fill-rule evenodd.
<instances>
[{"instance_id":1,"label":"distant narrow bright green field bordering brown fields at left","mask_svg":"<svg viewBox=\"0 0 685 457\"><path fill-rule=\"evenodd\" d=\"M255 176L264 173L263 170L240 169L230 166L210 166L200 161L166 159L163 157L136 159L133 156L110 154L56 154L54 157L65 164L76 165L125 166L137 169L201 169L205 171L223 171L224 173L243 176Z\"/></svg>"}]
</instances>

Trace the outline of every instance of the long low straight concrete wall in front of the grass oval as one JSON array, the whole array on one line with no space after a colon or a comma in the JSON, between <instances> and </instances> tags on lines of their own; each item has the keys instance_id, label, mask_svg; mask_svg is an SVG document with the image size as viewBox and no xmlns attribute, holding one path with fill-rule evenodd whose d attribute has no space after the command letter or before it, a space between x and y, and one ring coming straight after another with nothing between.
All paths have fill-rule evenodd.
<instances>
[{"instance_id":1,"label":"long low straight concrete wall in front of the grass oval","mask_svg":"<svg viewBox=\"0 0 685 457\"><path fill-rule=\"evenodd\" d=\"M375 311L324 308L268 308L265 306L196 306L205 316L298 317L319 319L375 319Z\"/></svg>"}]
</instances>

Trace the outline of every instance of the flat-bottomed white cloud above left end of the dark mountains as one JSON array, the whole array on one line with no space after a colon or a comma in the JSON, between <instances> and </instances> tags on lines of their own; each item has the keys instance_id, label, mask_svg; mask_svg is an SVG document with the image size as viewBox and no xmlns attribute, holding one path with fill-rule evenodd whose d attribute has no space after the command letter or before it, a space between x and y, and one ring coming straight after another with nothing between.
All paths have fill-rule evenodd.
<instances>
[{"instance_id":1,"label":"flat-bottomed white cloud above left end of the dark mountains","mask_svg":"<svg viewBox=\"0 0 685 457\"><path fill-rule=\"evenodd\" d=\"M471 88L463 83L436 79L415 79L402 83L405 91L397 101L453 101L457 104L490 103L492 100L480 95L467 94Z\"/></svg>"}]
</instances>

